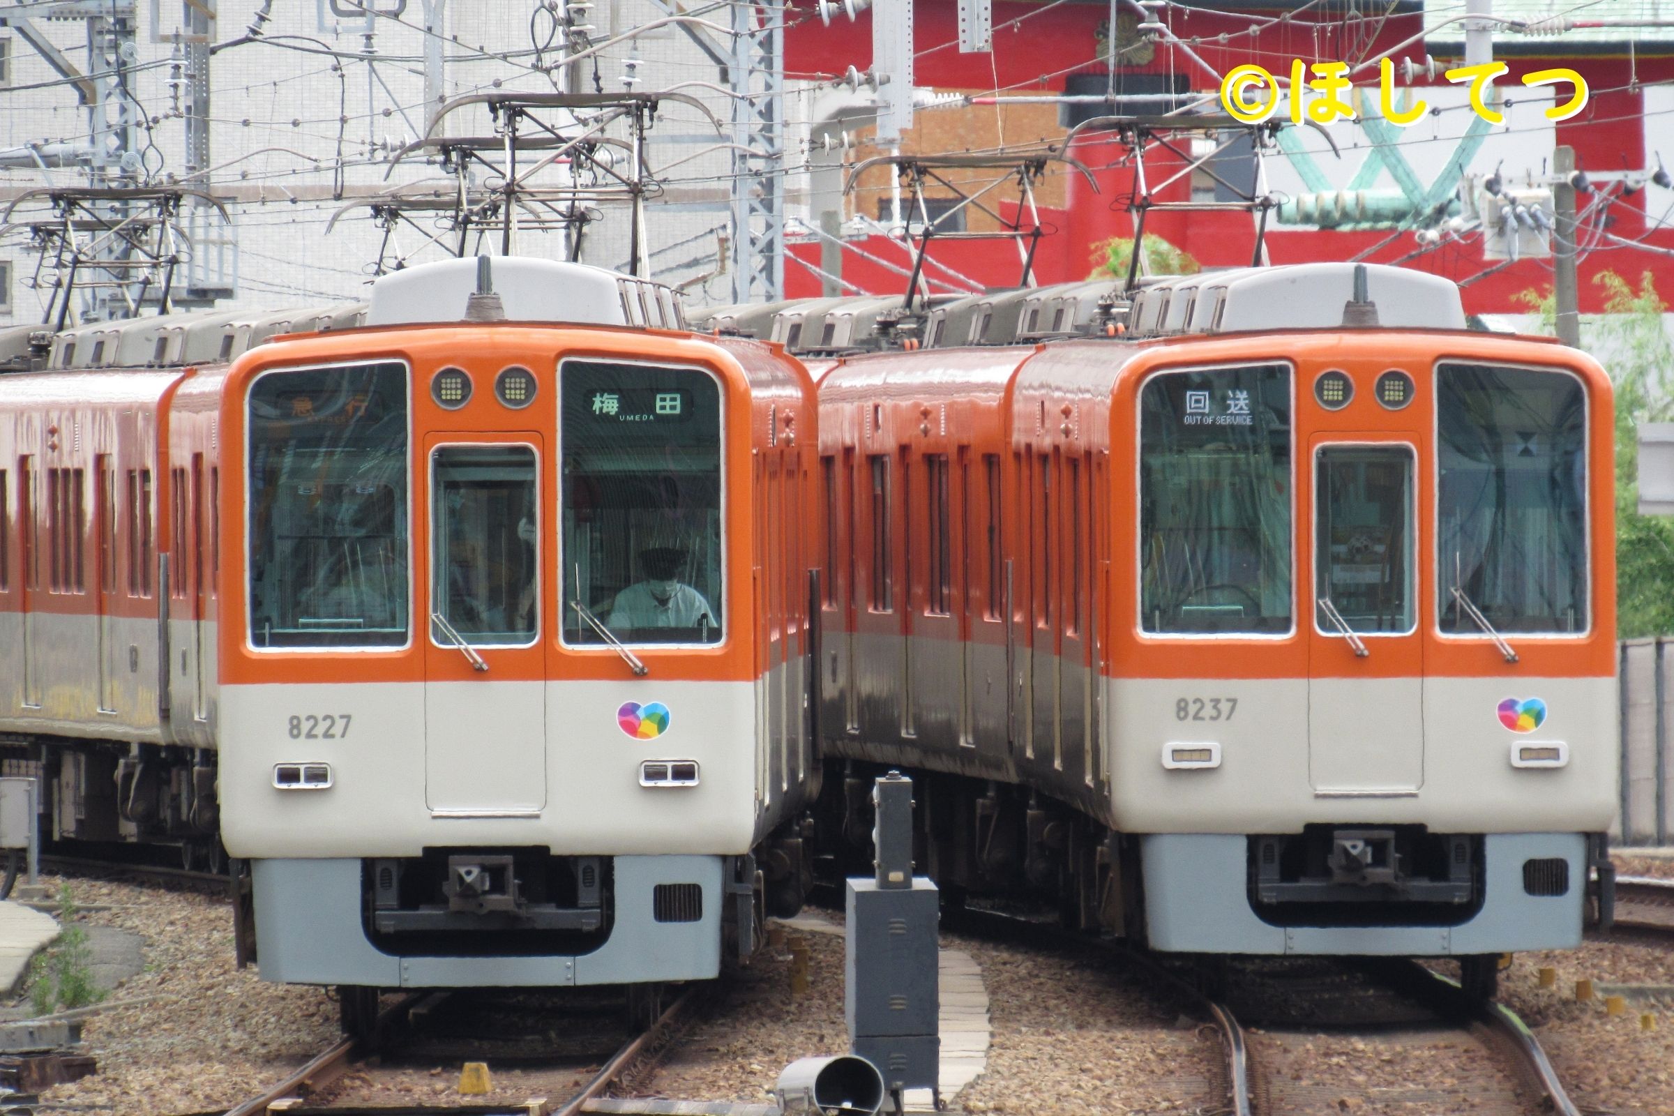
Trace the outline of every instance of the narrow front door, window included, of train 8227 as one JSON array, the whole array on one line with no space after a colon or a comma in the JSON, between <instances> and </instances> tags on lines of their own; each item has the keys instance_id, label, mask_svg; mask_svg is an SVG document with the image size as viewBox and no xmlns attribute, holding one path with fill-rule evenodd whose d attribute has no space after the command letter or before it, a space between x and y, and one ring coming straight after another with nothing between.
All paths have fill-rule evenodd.
<instances>
[{"instance_id":1,"label":"narrow front door, window included, of train 8227","mask_svg":"<svg viewBox=\"0 0 1674 1116\"><path fill-rule=\"evenodd\" d=\"M546 806L542 440L432 433L425 801L435 815Z\"/></svg>"}]
</instances>

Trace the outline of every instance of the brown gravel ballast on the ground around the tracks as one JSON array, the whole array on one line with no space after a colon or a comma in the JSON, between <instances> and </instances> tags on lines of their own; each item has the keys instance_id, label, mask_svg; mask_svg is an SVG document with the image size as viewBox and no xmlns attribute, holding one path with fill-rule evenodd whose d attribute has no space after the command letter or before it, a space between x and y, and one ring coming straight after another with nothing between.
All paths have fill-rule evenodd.
<instances>
[{"instance_id":1,"label":"brown gravel ballast on the ground around the tracks","mask_svg":"<svg viewBox=\"0 0 1674 1116\"><path fill-rule=\"evenodd\" d=\"M57 883L49 880L54 893ZM146 965L112 992L114 1007L85 1024L84 1046L97 1056L99 1074L50 1089L50 1104L124 1116L211 1111L253 1096L336 1039L336 1004L323 989L264 984L233 967L224 898L92 880L70 887L79 904L105 907L84 912L84 922L144 937ZM842 1052L842 939L802 940L810 957L805 996L790 994L788 950L763 952L711 989L708 1007L663 1064L633 1074L623 1093L760 1103L787 1062ZM1214 1032L1184 997L1130 962L1096 949L951 934L942 945L966 950L981 967L993 1024L988 1072L953 1108L1078 1116L1210 1111L1222 1103ZM1542 965L1557 969L1557 987L1540 987ZM1674 1113L1674 999L1632 994L1629 1014L1607 1016L1605 989L1595 1001L1574 1001L1579 977L1667 989L1674 949L1642 937L1589 940L1575 952L1520 954L1502 974L1502 999L1535 1027L1584 1109ZM1656 1029L1641 1031L1642 1011L1656 1014ZM1445 1076L1445 1066L1426 1059L1413 1072L1431 1069ZM457 1071L415 1069L415 1093L452 1093ZM516 1088L516 1076L497 1084Z\"/></svg>"}]
</instances>

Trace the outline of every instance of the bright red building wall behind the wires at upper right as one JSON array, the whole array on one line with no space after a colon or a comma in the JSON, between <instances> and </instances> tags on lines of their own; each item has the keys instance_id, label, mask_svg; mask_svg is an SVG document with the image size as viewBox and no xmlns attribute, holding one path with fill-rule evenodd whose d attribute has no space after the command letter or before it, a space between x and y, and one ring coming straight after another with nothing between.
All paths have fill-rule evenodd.
<instances>
[{"instance_id":1,"label":"bright red building wall behind the wires at upper right","mask_svg":"<svg viewBox=\"0 0 1674 1116\"><path fill-rule=\"evenodd\" d=\"M936 89L1004 89L1013 94L1061 92L1070 74L1107 72L1101 64L1085 62L1095 55L1095 33L1103 25L1107 12L1105 5L1060 3L1053 7L996 0L993 54L961 54L956 45L956 5L953 0L917 0L914 10L914 38L919 52L917 84ZM1401 47L1404 40L1421 30L1421 20L1416 13L1391 15L1376 27L1373 27L1373 20L1358 20L1356 23L1334 22L1319 28L1307 23L1307 17L1299 17L1267 25L1254 35L1249 32L1257 18L1250 17L1185 13L1175 18L1173 32L1195 44L1194 50L1219 72L1244 62L1256 62L1282 74L1289 69L1289 60L1297 57L1304 62L1374 60L1391 49ZM1219 42L1222 33L1227 35L1224 44ZM830 27L824 27L817 17L804 17L785 33L787 69L793 77L805 79L822 74L832 75L850 64L864 70L870 64L870 37L869 12L854 22L839 17ZM1590 99L1580 115L1557 125L1558 142L1572 146L1579 166L1594 174L1644 169L1647 122L1642 115L1644 97L1634 87L1634 79L1637 82L1674 79L1674 59L1646 57L1639 52L1630 60L1625 47L1615 50L1607 45L1585 55L1560 55L1557 50L1562 45L1562 37L1507 37L1503 44L1497 42L1500 60L1510 65L1510 74L1502 77L1498 84L1507 89L1507 95L1515 97L1515 90L1520 89L1518 79L1525 72L1557 65L1575 69L1587 79ZM1533 55L1528 49L1547 54ZM1423 59L1425 44L1410 44L1391 57L1398 59L1404 54ZM1438 64L1445 69L1461 62L1438 59ZM1148 64L1125 67L1125 72L1185 74L1194 89L1205 89L1214 82L1202 67L1165 45L1157 47L1155 57ZM1376 95L1376 70L1363 72L1358 80L1369 80L1371 92ZM1446 85L1440 79L1435 84ZM981 107L963 109L963 112L981 110ZM1659 122L1651 125L1657 127ZM1334 127L1348 129L1353 124ZM1093 169L1100 191L1095 194L1078 176L1068 176L1065 207L1043 212L1043 223L1051 229L1051 236L1041 241L1036 253L1038 283L1085 278L1090 271L1088 261L1093 248L1100 241L1112 236L1132 236L1127 202L1135 184L1130 162L1125 159L1127 151L1105 137L1085 136L1071 154ZM1674 159L1674 141L1671 141L1667 154ZM1178 166L1177 159L1153 152L1147 157L1150 182L1158 182ZM1647 223L1644 212L1649 191L1620 196L1620 187L1610 184L1604 192L1609 201L1594 207L1592 221L1584 226L1580 236L1584 246L1580 259L1582 310L1600 308L1600 291L1592 278L1605 269L1614 269L1634 281L1641 273L1649 271L1657 289L1666 298L1674 299L1674 254L1657 251L1674 253L1674 231L1647 229L1647 224L1654 226L1654 221ZM1167 199L1189 196L1190 181L1185 176L1172 189L1160 194ZM1597 196L1582 196L1580 207L1585 211L1589 202L1595 201L1599 201ZM1652 218L1657 216L1661 216L1661 204ZM1204 266L1247 264L1256 244L1254 223L1244 212L1152 212L1147 219L1147 231L1163 236ZM1609 241L1604 234L1641 241L1647 248L1622 246ZM1344 233L1269 224L1267 251L1274 263L1348 259L1378 246L1388 236L1389 233L1378 231ZM859 246L892 263L904 258L899 248L867 244L865 241L860 241ZM1552 283L1548 259L1522 259L1497 268L1500 261L1483 258L1480 238L1471 238L1468 243L1445 241L1423 253L1418 249L1413 234L1403 233L1378 248L1368 259L1401 263L1445 274L1465 284L1465 305L1473 313L1522 311L1525 306L1517 299L1518 293L1545 288ZM817 244L795 244L792 251L802 259L819 261ZM949 268L981 283L1009 286L1018 281L1016 253L1011 251L1009 244L961 241L944 243L932 251ZM931 274L937 276L939 273L932 268ZM787 268L785 278L787 289L793 296L817 294L820 289L820 279L805 268L792 264ZM902 276L855 253L844 253L844 278L869 291L906 289Z\"/></svg>"}]
</instances>

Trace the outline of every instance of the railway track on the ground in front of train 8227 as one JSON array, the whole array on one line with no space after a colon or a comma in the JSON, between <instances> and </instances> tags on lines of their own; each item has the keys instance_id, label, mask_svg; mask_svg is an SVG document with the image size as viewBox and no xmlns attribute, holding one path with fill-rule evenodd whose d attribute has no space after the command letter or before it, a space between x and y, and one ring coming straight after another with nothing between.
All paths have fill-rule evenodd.
<instances>
[{"instance_id":1,"label":"railway track on the ground in front of train 8227","mask_svg":"<svg viewBox=\"0 0 1674 1116\"><path fill-rule=\"evenodd\" d=\"M511 994L519 1004L496 1002L494 996L475 989L405 996L380 1012L375 1041L341 1039L285 1081L229 1108L226 1116L352 1116L372 1109L380 1116L576 1116L641 1057L660 1052L695 996L696 989L686 989L651 1026L626 1036L616 1026L616 1036L603 1051L589 1049L603 1032L588 1029L598 1024L601 1012L576 1012L569 1004L559 1019L539 1011L539 1002L549 1001L544 992ZM504 1031L507 1017L516 1017L524 1029ZM484 1031L484 1026L499 1029ZM524 1083L554 1088L531 1089L531 1096L517 1101L489 1103L477 1096L424 1101L398 1096L403 1091L398 1076L422 1072L415 1066L464 1061L485 1061L501 1071L516 1067L519 1088Z\"/></svg>"}]
</instances>

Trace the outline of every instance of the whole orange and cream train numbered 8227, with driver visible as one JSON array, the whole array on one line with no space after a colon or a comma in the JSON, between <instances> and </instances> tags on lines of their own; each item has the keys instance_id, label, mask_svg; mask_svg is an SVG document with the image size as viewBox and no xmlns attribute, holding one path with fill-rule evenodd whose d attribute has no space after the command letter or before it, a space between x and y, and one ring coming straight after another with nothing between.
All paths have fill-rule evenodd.
<instances>
[{"instance_id":1,"label":"whole orange and cream train numbered 8227, with driver visible","mask_svg":"<svg viewBox=\"0 0 1674 1116\"><path fill-rule=\"evenodd\" d=\"M805 370L549 261L298 326L0 376L0 731L49 837L219 823L263 977L350 1026L378 987L715 975L802 890Z\"/></svg>"}]
</instances>

